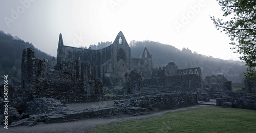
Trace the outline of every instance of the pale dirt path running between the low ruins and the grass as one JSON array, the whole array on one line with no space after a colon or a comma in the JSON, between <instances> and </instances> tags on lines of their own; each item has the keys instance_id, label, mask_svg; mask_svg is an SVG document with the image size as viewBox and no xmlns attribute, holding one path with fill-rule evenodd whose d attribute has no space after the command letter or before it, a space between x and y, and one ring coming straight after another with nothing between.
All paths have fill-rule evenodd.
<instances>
[{"instance_id":1,"label":"pale dirt path running between the low ruins and the grass","mask_svg":"<svg viewBox=\"0 0 256 133\"><path fill-rule=\"evenodd\" d=\"M93 119L83 119L73 122L63 122L63 123L51 123L51 124L38 124L35 126L17 126L5 129L3 125L0 126L0 132L88 132L96 125L103 125L112 122L123 122L129 120L141 120L153 118L156 116L163 115L168 112L177 112L179 110L188 110L200 107L207 107L210 105L195 105L184 108L178 108L173 110L159 110L158 112L153 112L148 115L141 116L131 116L131 115L121 115L113 116L107 118L93 118Z\"/></svg>"}]
</instances>

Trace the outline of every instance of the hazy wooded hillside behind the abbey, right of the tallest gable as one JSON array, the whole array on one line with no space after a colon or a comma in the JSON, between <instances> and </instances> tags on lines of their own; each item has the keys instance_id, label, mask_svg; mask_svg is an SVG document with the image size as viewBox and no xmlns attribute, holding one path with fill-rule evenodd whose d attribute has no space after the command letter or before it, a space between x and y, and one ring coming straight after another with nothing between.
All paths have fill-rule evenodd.
<instances>
[{"instance_id":1,"label":"hazy wooded hillside behind the abbey, right of the tallest gable","mask_svg":"<svg viewBox=\"0 0 256 133\"><path fill-rule=\"evenodd\" d=\"M101 42L98 45L91 45L92 49L101 49L111 45L110 42ZM165 66L168 62L175 62L178 69L201 67L203 79L205 76L224 75L233 83L243 83L246 66L241 61L223 60L208 57L205 55L192 53L188 48L179 50L170 45L164 45L155 41L135 41L130 42L132 57L141 58L146 47L153 55L153 65L155 68Z\"/></svg>"}]
</instances>

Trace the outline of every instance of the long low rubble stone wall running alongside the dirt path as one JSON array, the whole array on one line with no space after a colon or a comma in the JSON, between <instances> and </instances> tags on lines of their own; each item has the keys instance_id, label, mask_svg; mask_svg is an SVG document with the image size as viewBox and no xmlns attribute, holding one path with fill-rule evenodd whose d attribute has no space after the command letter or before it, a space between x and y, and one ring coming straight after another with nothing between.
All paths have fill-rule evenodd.
<instances>
[{"instance_id":1,"label":"long low rubble stone wall running alongside the dirt path","mask_svg":"<svg viewBox=\"0 0 256 133\"><path fill-rule=\"evenodd\" d=\"M108 117L118 114L142 115L152 109L172 109L197 104L196 93L161 93L115 102L115 105L74 111L52 98L36 98L26 105L29 118L12 122L11 126L34 125L37 122L66 122L83 118Z\"/></svg>"}]
</instances>

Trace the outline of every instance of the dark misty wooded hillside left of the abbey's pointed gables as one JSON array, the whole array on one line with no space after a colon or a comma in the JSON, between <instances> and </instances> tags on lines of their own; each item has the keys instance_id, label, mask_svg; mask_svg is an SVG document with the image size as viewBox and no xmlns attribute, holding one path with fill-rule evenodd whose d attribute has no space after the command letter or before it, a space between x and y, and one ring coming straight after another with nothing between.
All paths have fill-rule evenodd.
<instances>
[{"instance_id":1,"label":"dark misty wooded hillside left of the abbey's pointed gables","mask_svg":"<svg viewBox=\"0 0 256 133\"><path fill-rule=\"evenodd\" d=\"M31 43L0 31L0 75L21 78L22 52L27 48L34 49L36 58L49 60L50 66L56 62L55 57L38 50Z\"/></svg>"}]
</instances>

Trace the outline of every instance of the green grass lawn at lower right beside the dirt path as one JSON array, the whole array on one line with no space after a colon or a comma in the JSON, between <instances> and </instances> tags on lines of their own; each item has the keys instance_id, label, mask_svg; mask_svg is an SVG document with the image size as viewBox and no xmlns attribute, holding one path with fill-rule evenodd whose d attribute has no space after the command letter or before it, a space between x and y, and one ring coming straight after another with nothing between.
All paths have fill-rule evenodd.
<instances>
[{"instance_id":1,"label":"green grass lawn at lower right beside the dirt path","mask_svg":"<svg viewBox=\"0 0 256 133\"><path fill-rule=\"evenodd\" d=\"M92 132L256 132L256 111L203 107L145 120L98 125Z\"/></svg>"}]
</instances>

